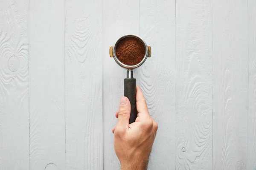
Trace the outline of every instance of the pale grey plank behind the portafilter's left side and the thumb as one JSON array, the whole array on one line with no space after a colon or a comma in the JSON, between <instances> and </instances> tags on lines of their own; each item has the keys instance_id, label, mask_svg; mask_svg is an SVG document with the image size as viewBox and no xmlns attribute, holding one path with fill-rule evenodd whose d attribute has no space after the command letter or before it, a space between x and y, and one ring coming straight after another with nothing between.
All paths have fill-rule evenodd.
<instances>
[{"instance_id":1,"label":"pale grey plank behind the portafilter's left side and the thumb","mask_svg":"<svg viewBox=\"0 0 256 170\"><path fill-rule=\"evenodd\" d=\"M124 94L126 70L109 57L109 47L124 34L140 33L140 1L103 1L103 157L104 169L119 169L119 160L113 148L112 128L116 125L115 113ZM134 77L139 84L138 69Z\"/></svg>"}]
</instances>

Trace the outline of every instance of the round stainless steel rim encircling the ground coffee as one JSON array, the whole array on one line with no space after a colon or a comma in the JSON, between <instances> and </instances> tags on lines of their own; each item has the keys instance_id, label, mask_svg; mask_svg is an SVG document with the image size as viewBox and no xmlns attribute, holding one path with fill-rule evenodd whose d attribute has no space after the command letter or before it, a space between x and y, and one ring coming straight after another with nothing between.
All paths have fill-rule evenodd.
<instances>
[{"instance_id":1,"label":"round stainless steel rim encircling the ground coffee","mask_svg":"<svg viewBox=\"0 0 256 170\"><path fill-rule=\"evenodd\" d=\"M118 59L117 56L116 56L116 45L118 44L118 42L119 42L120 40L122 40L123 38L126 38L126 37L135 37L135 38L141 40L141 42L142 42L143 45L144 45L144 48L145 48L145 55L144 55L143 59L142 59L137 65L125 65L124 63L120 62L119 59ZM142 64L146 61L146 59L148 58L148 45L146 44L146 42L145 42L140 36L137 36L137 35L134 35L134 34L124 35L124 36L120 37L120 38L115 42L115 44L113 45L113 57L114 57L116 63L119 64L121 67L127 68L127 69L129 69L129 70L132 70L132 69L137 68L137 67L139 67L140 65L142 65Z\"/></svg>"}]
</instances>

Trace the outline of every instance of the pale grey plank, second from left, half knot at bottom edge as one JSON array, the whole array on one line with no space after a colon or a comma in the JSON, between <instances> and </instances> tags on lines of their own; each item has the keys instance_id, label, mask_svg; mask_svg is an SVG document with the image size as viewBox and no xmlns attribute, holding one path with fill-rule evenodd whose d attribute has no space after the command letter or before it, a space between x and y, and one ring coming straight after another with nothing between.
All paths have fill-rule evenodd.
<instances>
[{"instance_id":1,"label":"pale grey plank, second from left, half knot at bottom edge","mask_svg":"<svg viewBox=\"0 0 256 170\"><path fill-rule=\"evenodd\" d=\"M64 1L30 0L29 14L30 170L64 170Z\"/></svg>"}]
</instances>

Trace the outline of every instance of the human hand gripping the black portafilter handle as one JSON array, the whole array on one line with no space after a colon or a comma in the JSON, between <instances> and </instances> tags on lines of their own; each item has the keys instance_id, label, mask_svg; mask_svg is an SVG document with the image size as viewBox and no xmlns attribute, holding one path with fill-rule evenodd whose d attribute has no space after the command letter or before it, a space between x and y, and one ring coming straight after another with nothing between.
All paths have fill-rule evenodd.
<instances>
[{"instance_id":1,"label":"human hand gripping the black portafilter handle","mask_svg":"<svg viewBox=\"0 0 256 170\"><path fill-rule=\"evenodd\" d=\"M158 125L148 113L148 107L139 86L136 87L138 117L129 124L131 104L122 97L116 126L113 128L114 148L122 170L145 170Z\"/></svg>"}]
</instances>

